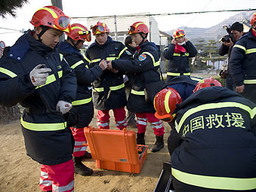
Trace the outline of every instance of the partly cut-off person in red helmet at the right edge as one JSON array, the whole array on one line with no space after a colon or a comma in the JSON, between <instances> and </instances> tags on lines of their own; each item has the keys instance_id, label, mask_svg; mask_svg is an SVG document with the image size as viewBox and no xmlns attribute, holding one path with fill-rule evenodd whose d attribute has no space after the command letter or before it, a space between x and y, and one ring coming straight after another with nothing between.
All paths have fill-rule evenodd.
<instances>
[{"instance_id":1,"label":"partly cut-off person in red helmet at the right edge","mask_svg":"<svg viewBox=\"0 0 256 192\"><path fill-rule=\"evenodd\" d=\"M229 65L236 92L256 103L256 13L250 23L251 29L233 46Z\"/></svg>"}]
</instances>

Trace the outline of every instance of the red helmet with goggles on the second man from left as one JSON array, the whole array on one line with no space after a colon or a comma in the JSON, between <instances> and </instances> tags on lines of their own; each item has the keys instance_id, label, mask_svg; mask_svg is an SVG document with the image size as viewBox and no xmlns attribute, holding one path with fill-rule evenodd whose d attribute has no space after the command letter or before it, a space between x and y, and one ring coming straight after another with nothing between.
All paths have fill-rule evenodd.
<instances>
[{"instance_id":1,"label":"red helmet with goggles on the second man from left","mask_svg":"<svg viewBox=\"0 0 256 192\"><path fill-rule=\"evenodd\" d=\"M71 25L71 31L66 35L74 41L91 41L91 32L83 25L74 23Z\"/></svg>"}]
</instances>

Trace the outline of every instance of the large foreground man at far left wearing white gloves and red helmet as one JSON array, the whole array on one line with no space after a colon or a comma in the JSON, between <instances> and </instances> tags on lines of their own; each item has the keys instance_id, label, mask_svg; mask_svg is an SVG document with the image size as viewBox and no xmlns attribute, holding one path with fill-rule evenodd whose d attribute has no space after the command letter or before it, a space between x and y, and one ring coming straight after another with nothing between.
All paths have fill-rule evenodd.
<instances>
[{"instance_id":1,"label":"large foreground man at far left wearing white gloves and red helmet","mask_svg":"<svg viewBox=\"0 0 256 192\"><path fill-rule=\"evenodd\" d=\"M55 48L70 18L54 6L40 8L28 30L0 60L0 104L25 110L20 122L26 154L42 164L42 191L74 190L73 139L63 114L76 98L76 76Z\"/></svg>"}]
</instances>

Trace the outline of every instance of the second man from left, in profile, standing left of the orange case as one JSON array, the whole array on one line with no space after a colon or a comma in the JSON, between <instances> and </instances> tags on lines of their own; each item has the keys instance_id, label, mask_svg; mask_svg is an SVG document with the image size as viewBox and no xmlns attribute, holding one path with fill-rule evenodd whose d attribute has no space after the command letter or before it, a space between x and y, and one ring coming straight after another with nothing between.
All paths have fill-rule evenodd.
<instances>
[{"instance_id":1,"label":"second man from left, in profile, standing left of the orange case","mask_svg":"<svg viewBox=\"0 0 256 192\"><path fill-rule=\"evenodd\" d=\"M60 53L63 54L69 66L74 69L77 79L76 99L72 102L71 111L76 114L78 120L75 126L70 127L75 139L73 161L75 172L79 175L91 175L93 170L82 163L84 159L91 159L91 154L83 145L86 142L84 127L91 123L94 117L94 106L91 102L91 83L102 75L106 69L106 61L100 62L99 66L88 69L84 56L80 53L85 41L91 41L91 32L79 23L71 25L71 31L66 33L67 39L59 45Z\"/></svg>"}]
</instances>

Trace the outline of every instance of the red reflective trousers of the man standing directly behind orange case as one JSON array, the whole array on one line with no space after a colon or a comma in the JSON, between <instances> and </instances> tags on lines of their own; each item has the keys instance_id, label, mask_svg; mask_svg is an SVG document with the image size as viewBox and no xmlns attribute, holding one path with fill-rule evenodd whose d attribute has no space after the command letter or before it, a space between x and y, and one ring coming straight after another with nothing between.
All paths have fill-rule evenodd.
<instances>
[{"instance_id":1,"label":"red reflective trousers of the man standing directly behind orange case","mask_svg":"<svg viewBox=\"0 0 256 192\"><path fill-rule=\"evenodd\" d=\"M125 108L112 109L116 121L116 127L119 130L126 128L127 120L125 117ZM109 130L109 110L98 110L97 111L97 126L99 129Z\"/></svg>"}]
</instances>

